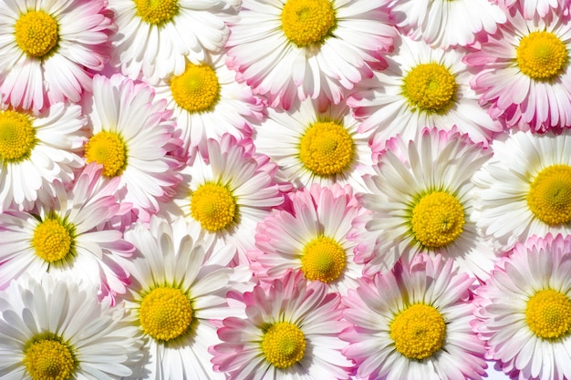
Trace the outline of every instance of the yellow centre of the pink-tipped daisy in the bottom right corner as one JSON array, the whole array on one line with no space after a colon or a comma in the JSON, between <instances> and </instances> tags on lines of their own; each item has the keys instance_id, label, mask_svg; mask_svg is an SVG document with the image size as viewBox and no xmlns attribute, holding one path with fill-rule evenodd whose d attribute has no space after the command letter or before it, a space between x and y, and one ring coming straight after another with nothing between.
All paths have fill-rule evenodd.
<instances>
[{"instance_id":1,"label":"yellow centre of the pink-tipped daisy in the bottom right corner","mask_svg":"<svg viewBox=\"0 0 571 380\"><path fill-rule=\"evenodd\" d=\"M527 302L525 322L540 338L557 339L571 330L571 300L553 289L539 291Z\"/></svg>"}]
</instances>

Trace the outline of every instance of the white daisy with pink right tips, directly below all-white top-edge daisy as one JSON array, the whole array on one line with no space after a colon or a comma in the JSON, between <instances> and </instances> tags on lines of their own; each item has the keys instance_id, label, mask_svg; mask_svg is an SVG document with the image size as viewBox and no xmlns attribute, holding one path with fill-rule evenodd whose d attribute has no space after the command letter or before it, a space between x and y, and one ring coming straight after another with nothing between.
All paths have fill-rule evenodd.
<instances>
[{"instance_id":1,"label":"white daisy with pink right tips, directly below all-white top-edge daisy","mask_svg":"<svg viewBox=\"0 0 571 380\"><path fill-rule=\"evenodd\" d=\"M204 144L224 133L236 139L250 137L250 125L264 117L262 100L254 98L250 87L236 82L224 59L217 55L198 64L187 62L181 75L154 86L157 96L167 99L167 107L173 110L185 146Z\"/></svg>"}]
</instances>

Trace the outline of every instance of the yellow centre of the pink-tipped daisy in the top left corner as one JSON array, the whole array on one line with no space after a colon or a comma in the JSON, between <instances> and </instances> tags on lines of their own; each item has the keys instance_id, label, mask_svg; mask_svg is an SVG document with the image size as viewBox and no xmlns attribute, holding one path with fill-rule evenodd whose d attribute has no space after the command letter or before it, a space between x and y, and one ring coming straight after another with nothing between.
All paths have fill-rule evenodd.
<instances>
[{"instance_id":1,"label":"yellow centre of the pink-tipped daisy in the top left corner","mask_svg":"<svg viewBox=\"0 0 571 380\"><path fill-rule=\"evenodd\" d=\"M57 21L43 11L29 11L16 21L16 45L28 56L47 56L59 40Z\"/></svg>"}]
</instances>

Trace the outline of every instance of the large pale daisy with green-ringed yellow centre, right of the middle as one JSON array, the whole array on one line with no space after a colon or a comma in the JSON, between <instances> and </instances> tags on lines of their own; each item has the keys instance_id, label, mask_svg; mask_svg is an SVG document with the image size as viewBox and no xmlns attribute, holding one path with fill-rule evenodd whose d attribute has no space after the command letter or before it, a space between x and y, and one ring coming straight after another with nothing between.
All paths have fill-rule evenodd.
<instances>
[{"instance_id":1,"label":"large pale daisy with green-ringed yellow centre, right of the middle","mask_svg":"<svg viewBox=\"0 0 571 380\"><path fill-rule=\"evenodd\" d=\"M376 174L361 194L369 209L367 232L378 234L365 272L386 272L397 260L410 262L418 252L441 253L479 278L493 267L493 250L478 234L472 218L472 175L490 159L489 149L452 129L426 128L420 139L397 137L379 158Z\"/></svg>"}]
</instances>

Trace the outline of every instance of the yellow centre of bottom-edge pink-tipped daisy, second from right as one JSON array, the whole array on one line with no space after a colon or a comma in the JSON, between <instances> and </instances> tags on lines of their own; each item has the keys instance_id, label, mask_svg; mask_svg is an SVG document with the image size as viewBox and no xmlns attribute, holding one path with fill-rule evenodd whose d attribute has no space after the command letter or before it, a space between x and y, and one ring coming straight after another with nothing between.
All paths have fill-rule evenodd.
<instances>
[{"instance_id":1,"label":"yellow centre of bottom-edge pink-tipped daisy, second from right","mask_svg":"<svg viewBox=\"0 0 571 380\"><path fill-rule=\"evenodd\" d=\"M422 360L442 348L446 324L436 308L415 303L398 313L390 324L395 348L409 359Z\"/></svg>"}]
</instances>

